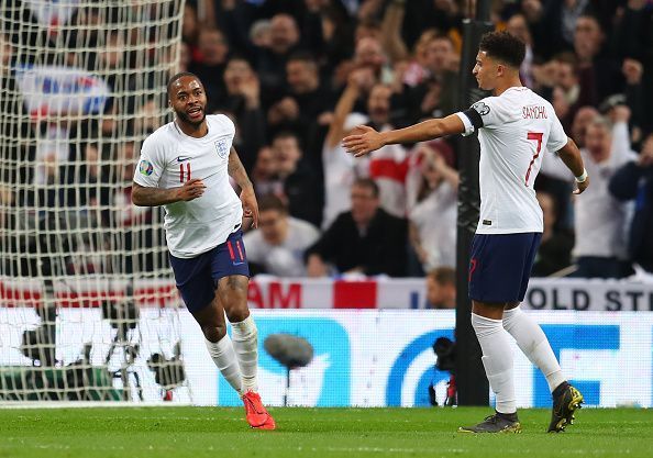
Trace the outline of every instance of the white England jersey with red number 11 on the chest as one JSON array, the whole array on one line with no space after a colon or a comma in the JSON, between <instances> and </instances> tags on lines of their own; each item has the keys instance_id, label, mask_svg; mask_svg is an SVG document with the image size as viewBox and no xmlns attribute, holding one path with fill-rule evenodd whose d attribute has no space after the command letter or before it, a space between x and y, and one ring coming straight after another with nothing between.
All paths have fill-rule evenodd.
<instances>
[{"instance_id":1,"label":"white England jersey with red number 11 on the chest","mask_svg":"<svg viewBox=\"0 0 653 458\"><path fill-rule=\"evenodd\" d=\"M201 197L164 205L168 249L178 258L224 243L243 216L226 170L235 126L223 114L208 115L207 123L209 132L201 138L186 135L174 122L156 130L143 143L134 172L134 181L147 188L178 188L193 178L204 182Z\"/></svg>"}]
</instances>

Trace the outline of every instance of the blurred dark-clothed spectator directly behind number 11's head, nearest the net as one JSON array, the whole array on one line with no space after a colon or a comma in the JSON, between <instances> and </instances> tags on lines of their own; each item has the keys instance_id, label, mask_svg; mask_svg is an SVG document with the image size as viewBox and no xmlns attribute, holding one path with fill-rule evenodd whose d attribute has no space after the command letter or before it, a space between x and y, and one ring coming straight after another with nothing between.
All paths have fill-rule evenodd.
<instances>
[{"instance_id":1,"label":"blurred dark-clothed spectator directly behind number 11's head, nearest the net","mask_svg":"<svg viewBox=\"0 0 653 458\"><path fill-rule=\"evenodd\" d=\"M192 74L204 82L209 110L220 104L225 96L224 74L229 56L229 43L222 31L215 27L202 27L198 35L200 59L193 58L189 65Z\"/></svg>"}]
</instances>

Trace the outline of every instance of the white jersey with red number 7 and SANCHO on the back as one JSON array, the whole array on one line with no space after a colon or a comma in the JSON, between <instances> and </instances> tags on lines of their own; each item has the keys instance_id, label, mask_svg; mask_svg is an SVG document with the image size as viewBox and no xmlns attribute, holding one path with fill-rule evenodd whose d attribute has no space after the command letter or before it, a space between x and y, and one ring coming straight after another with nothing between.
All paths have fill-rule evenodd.
<instances>
[{"instance_id":1,"label":"white jersey with red number 7 and SANCHO on the back","mask_svg":"<svg viewBox=\"0 0 653 458\"><path fill-rule=\"evenodd\" d=\"M465 124L464 135L480 129L480 219L476 233L543 232L533 183L544 152L557 152L567 144L551 103L529 88L512 87L456 114Z\"/></svg>"}]
</instances>

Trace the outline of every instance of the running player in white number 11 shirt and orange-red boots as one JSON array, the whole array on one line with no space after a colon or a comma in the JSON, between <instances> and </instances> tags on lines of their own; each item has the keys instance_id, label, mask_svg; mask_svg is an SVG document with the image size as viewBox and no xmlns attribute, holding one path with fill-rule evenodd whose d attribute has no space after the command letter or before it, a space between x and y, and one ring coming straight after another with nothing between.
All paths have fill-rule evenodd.
<instances>
[{"instance_id":1,"label":"running player in white number 11 shirt and orange-red boots","mask_svg":"<svg viewBox=\"0 0 653 458\"><path fill-rule=\"evenodd\" d=\"M258 206L232 147L235 127L223 114L206 115L207 94L192 74L170 78L168 103L175 121L143 143L132 201L164 205L177 288L204 334L209 354L241 395L250 425L274 429L275 421L257 393L257 331L247 309L250 269L241 231L243 216L258 224ZM229 177L241 188L240 199Z\"/></svg>"}]
</instances>

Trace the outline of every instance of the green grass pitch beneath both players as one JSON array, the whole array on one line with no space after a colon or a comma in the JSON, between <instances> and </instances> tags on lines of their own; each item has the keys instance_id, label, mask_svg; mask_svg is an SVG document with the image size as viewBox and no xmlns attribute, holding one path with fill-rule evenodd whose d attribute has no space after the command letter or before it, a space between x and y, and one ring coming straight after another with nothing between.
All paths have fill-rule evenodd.
<instances>
[{"instance_id":1,"label":"green grass pitch beneath both players","mask_svg":"<svg viewBox=\"0 0 653 458\"><path fill-rule=\"evenodd\" d=\"M252 431L242 409L0 410L2 458L653 457L653 411L578 412L544 433L546 410L521 410L521 434L469 435L489 409L270 409L277 431Z\"/></svg>"}]
</instances>

